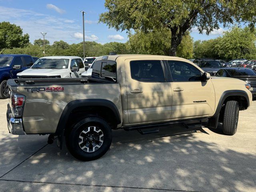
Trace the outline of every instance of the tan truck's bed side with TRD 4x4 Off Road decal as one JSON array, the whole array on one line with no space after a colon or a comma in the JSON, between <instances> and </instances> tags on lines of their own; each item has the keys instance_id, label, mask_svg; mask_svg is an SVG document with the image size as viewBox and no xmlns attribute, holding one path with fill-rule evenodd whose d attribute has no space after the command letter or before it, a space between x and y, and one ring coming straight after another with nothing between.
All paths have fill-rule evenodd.
<instances>
[{"instance_id":1,"label":"tan truck's bed side with TRD 4x4 Off Road decal","mask_svg":"<svg viewBox=\"0 0 256 192\"><path fill-rule=\"evenodd\" d=\"M100 100L116 106L122 119L120 85L93 78L10 79L12 92L26 96L23 124L26 134L54 133L67 106ZM81 105L82 107L82 105Z\"/></svg>"}]
</instances>

